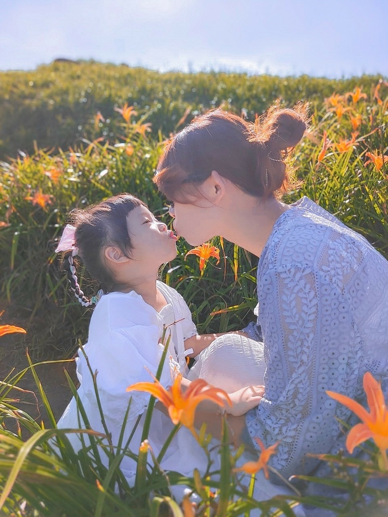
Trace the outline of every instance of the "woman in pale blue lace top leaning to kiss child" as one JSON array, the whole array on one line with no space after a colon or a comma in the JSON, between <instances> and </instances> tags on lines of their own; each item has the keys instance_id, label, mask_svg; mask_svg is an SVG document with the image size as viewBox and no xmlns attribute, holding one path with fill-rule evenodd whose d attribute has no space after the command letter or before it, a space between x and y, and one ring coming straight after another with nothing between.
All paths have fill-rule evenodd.
<instances>
[{"instance_id":1,"label":"woman in pale blue lace top leaning to kiss child","mask_svg":"<svg viewBox=\"0 0 388 517\"><path fill-rule=\"evenodd\" d=\"M320 467L308 453L344 447L338 419L354 420L326 390L365 403L366 371L388 388L388 262L306 197L281 201L305 129L303 105L255 124L209 112L174 136L154 178L189 244L222 235L260 257L257 324L244 330L264 342L265 395L246 428L280 441L272 465L285 477Z\"/></svg>"}]
</instances>

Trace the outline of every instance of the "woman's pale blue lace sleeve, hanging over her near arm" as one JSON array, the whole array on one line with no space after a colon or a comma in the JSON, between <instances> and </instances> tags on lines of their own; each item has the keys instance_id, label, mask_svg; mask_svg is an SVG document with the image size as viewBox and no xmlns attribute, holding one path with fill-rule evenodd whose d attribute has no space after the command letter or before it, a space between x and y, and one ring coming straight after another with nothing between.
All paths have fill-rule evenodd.
<instances>
[{"instance_id":1,"label":"woman's pale blue lace sleeve, hanging over her near arm","mask_svg":"<svg viewBox=\"0 0 388 517\"><path fill-rule=\"evenodd\" d=\"M252 438L279 440L272 465L283 476L309 473L329 452L350 411L326 390L354 397L361 363L359 332L334 276L302 266L268 268L260 279L260 322L267 368L265 396L247 414ZM256 442L253 440L253 443Z\"/></svg>"}]
</instances>

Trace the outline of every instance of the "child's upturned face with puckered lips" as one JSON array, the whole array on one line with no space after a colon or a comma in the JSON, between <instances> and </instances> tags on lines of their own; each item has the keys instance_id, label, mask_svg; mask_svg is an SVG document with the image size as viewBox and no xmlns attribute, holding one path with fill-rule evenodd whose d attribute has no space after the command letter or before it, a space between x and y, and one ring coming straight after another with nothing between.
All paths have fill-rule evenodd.
<instances>
[{"instance_id":1,"label":"child's upturned face with puckered lips","mask_svg":"<svg viewBox=\"0 0 388 517\"><path fill-rule=\"evenodd\" d=\"M127 227L132 260L160 266L175 258L177 237L145 206L137 206L128 214Z\"/></svg>"}]
</instances>

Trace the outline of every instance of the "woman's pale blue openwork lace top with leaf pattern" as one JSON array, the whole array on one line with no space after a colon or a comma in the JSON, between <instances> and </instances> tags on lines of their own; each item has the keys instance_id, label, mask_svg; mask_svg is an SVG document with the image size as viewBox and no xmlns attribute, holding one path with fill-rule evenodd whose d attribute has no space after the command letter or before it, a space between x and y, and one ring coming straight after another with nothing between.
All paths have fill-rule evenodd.
<instances>
[{"instance_id":1,"label":"woman's pale blue openwork lace top with leaf pattern","mask_svg":"<svg viewBox=\"0 0 388 517\"><path fill-rule=\"evenodd\" d=\"M306 453L337 452L337 419L357 422L326 390L366 406L366 371L388 391L388 262L361 235L304 197L276 221L257 270L265 397L247 414L251 437L280 440L273 466L311 472ZM253 440L254 441L254 440Z\"/></svg>"}]
</instances>

